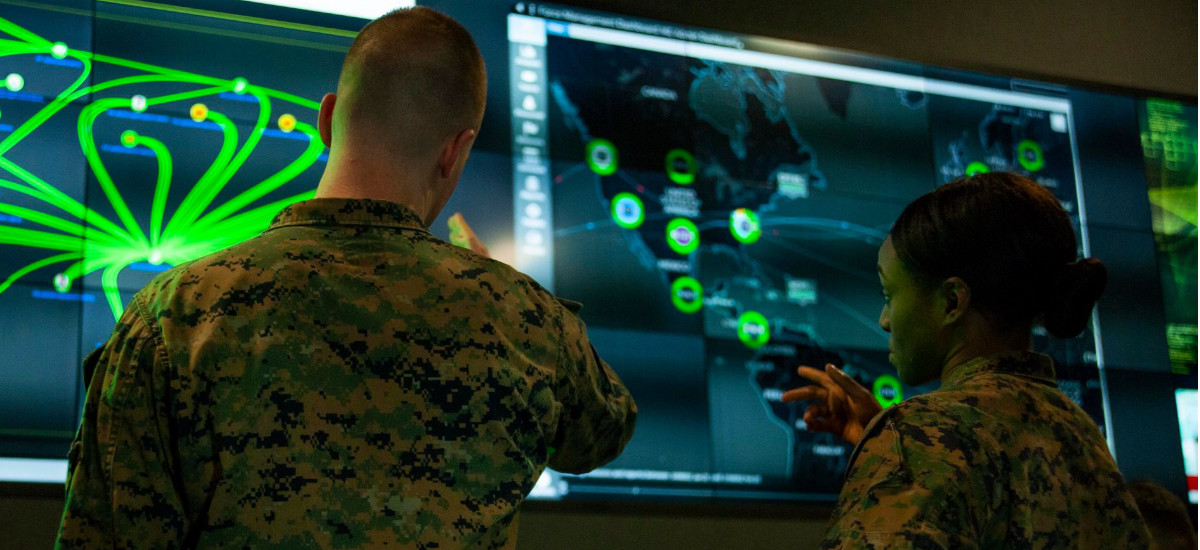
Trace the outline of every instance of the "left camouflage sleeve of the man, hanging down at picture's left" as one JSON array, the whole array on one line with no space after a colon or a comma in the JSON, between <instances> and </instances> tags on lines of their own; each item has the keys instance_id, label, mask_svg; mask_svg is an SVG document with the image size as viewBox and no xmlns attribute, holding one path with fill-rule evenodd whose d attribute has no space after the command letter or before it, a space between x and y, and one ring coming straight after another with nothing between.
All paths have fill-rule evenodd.
<instances>
[{"instance_id":1,"label":"left camouflage sleeve of the man, hanging down at picture's left","mask_svg":"<svg viewBox=\"0 0 1200 550\"><path fill-rule=\"evenodd\" d=\"M58 549L180 548L187 521L170 449L167 355L138 300L84 361Z\"/></svg>"}]
</instances>

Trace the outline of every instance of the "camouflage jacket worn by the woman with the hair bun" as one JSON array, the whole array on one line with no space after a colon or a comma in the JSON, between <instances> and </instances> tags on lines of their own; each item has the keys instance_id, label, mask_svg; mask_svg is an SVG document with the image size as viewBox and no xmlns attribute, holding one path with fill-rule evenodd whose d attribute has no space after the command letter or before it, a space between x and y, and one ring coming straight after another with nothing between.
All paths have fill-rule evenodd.
<instances>
[{"instance_id":1,"label":"camouflage jacket worn by the woman with the hair bun","mask_svg":"<svg viewBox=\"0 0 1200 550\"><path fill-rule=\"evenodd\" d=\"M868 425L822 548L1141 549L1150 538L1096 423L1049 357L949 369Z\"/></svg>"}]
</instances>

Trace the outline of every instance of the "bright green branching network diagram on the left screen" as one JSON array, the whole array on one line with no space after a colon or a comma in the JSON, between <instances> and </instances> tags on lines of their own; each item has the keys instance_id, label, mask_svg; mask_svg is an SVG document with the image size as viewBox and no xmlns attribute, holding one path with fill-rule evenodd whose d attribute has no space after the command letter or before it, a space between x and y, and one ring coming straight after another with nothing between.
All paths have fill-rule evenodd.
<instances>
[{"instance_id":1,"label":"bright green branching network diagram on the left screen","mask_svg":"<svg viewBox=\"0 0 1200 550\"><path fill-rule=\"evenodd\" d=\"M121 270L136 263L154 265L178 265L206 253L224 249L246 240L262 232L271 217L284 205L311 198L312 190L256 205L260 198L280 190L296 175L305 172L318 161L325 151L317 130L299 121L295 114L287 109L311 115L319 104L314 101L272 90L250 83L245 78L222 79L203 74L178 71L119 59L68 47L62 42L52 42L11 20L0 18L0 58L14 55L50 55L58 60L74 59L82 64L78 78L66 89L50 98L47 96L44 107L16 126L8 136L0 141L0 214L14 216L22 222L29 222L40 228L11 227L0 225L0 246L16 245L46 251L48 256L28 265L19 267L11 274L0 273L0 293L7 291L14 282L34 271L49 267L60 267L53 277L53 286L60 293L67 293L85 275L100 271L101 288L108 300L114 317L124 311L118 275ZM85 85L94 74L96 64L110 64L138 74L115 78L107 82L92 82ZM24 89L25 76L11 72L7 76L0 71L0 91L19 92ZM36 78L36 74L30 74ZM143 96L133 92L139 86L152 83L172 83L173 85L194 85L187 91L160 96ZM79 148L86 159L88 168L103 191L103 199L115 213L115 219L106 217L95 209L70 197L37 175L38 167L20 166L5 155L23 139L36 132L52 116L64 114L67 106L73 104L90 94L106 90L131 91L128 95L100 98L82 109L78 114ZM238 126L229 116L209 108L203 101L221 94L236 94L253 97L258 104L258 116L246 136L239 136ZM108 92L112 95L112 91ZM191 102L191 104L188 104ZM143 148L145 157L154 157L156 183L149 213L138 215L148 219L146 228L138 222L134 211L121 195L121 185L106 168L97 150L94 126L96 119L112 109L127 109L144 113L156 106L187 106L191 119L196 122L211 122L220 126L223 134L220 150L211 165L192 183L178 208L168 211L168 195L172 186L181 185L174 180L174 161L172 151L155 136L139 134L126 130L120 136L120 145L125 148ZM281 104L275 104L281 103ZM272 109L283 107L283 114L272 120ZM310 109L310 110L304 110ZM0 112L0 122L4 122ZM215 201L226 185L238 174L247 161L252 160L265 131L299 132L307 136L307 147L272 175L251 185L247 190L222 201ZM146 132L150 133L150 132ZM11 178L14 179L10 179ZM18 207L5 201L5 193L24 195L40 205L38 211ZM146 231L148 229L148 231Z\"/></svg>"}]
</instances>

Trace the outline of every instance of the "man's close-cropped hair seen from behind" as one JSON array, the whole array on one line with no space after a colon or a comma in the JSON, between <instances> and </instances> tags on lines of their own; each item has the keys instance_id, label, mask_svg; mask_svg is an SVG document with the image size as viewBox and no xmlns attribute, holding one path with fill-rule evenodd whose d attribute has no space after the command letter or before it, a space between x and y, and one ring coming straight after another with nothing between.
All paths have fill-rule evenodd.
<instances>
[{"instance_id":1,"label":"man's close-cropped hair seen from behind","mask_svg":"<svg viewBox=\"0 0 1200 550\"><path fill-rule=\"evenodd\" d=\"M342 127L335 122L335 136L366 132L395 141L402 149L397 154L422 154L462 130L479 128L487 77L467 29L434 10L413 7L359 31L337 91Z\"/></svg>"}]
</instances>

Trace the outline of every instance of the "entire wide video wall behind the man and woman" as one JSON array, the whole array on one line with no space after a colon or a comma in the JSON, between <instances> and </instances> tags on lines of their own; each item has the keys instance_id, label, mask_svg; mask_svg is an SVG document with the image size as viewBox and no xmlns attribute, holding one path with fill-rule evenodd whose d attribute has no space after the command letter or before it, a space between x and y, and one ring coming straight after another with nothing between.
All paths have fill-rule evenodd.
<instances>
[{"instance_id":1,"label":"entire wide video wall behind the man and woman","mask_svg":"<svg viewBox=\"0 0 1200 550\"><path fill-rule=\"evenodd\" d=\"M1195 203L1188 217L1176 190L1194 198L1195 171L1147 183L1154 151L1177 150L1153 137L1178 127L1160 120L1194 137L1194 104L1103 95L1122 107L1102 109L1056 84L564 6L420 4L463 22L490 72L485 127L433 232L461 211L494 257L582 301L641 411L624 455L547 472L534 498L835 498L851 448L780 396L804 383L798 365L826 363L883 405L934 389L888 365L876 252L910 201L966 174L1050 189L1082 253L1147 243L1110 268L1163 274L1163 293L1076 339L1034 335L1102 430L1105 347L1126 347L1104 329L1145 324L1128 311L1158 316L1163 361L1116 366L1170 369L1166 336L1183 334L1170 357L1190 349L1194 373L1194 311L1170 293L1190 281L1194 300ZM82 358L133 293L311 196L328 155L317 102L366 19L238 0L0 6L0 479L61 482ZM1093 130L1110 126L1134 179L1088 173L1114 157ZM1130 190L1145 216L1109 216ZM1178 220L1152 226L1151 203ZM1159 234L1175 237L1154 247ZM1168 288L1164 269L1183 282Z\"/></svg>"}]
</instances>

